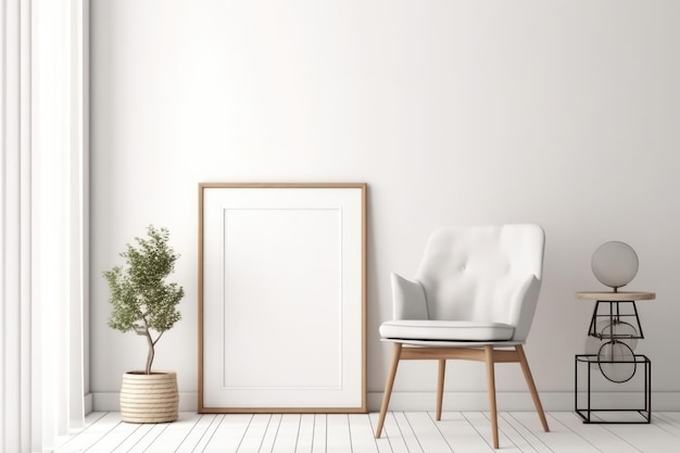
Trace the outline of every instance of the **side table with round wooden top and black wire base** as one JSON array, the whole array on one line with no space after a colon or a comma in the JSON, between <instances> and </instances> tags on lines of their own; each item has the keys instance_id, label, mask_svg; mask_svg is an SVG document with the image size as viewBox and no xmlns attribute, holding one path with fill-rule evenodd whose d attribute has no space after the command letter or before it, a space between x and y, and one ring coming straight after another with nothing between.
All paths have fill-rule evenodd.
<instances>
[{"instance_id":1,"label":"side table with round wooden top and black wire base","mask_svg":"<svg viewBox=\"0 0 680 453\"><path fill-rule=\"evenodd\" d=\"M654 300L656 294L654 292L591 291L577 292L576 297L581 300L595 301L588 329L587 353L575 356L576 413L587 424L648 424L652 418L652 362L646 355L634 353L638 340L644 338L635 302ZM600 405L593 402L593 378L600 376L604 378L600 380L605 385L620 385L631 381L639 368L643 372L642 379L637 379L637 381L642 380L639 382L642 385L641 402L626 407L616 407L612 404ZM607 419L600 413L608 415L619 413L626 416L619 419Z\"/></svg>"}]
</instances>

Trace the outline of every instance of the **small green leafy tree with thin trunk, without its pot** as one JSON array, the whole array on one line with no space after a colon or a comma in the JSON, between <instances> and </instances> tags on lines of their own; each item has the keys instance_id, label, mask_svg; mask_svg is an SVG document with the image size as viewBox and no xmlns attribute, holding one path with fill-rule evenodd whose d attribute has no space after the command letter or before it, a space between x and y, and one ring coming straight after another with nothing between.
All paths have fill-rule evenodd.
<instances>
[{"instance_id":1,"label":"small green leafy tree with thin trunk, without its pot","mask_svg":"<svg viewBox=\"0 0 680 453\"><path fill-rule=\"evenodd\" d=\"M125 266L115 266L103 274L109 281L113 306L109 327L123 332L135 330L147 338L149 353L144 373L149 375L155 343L181 318L176 305L185 291L177 284L165 282L179 259L167 243L169 231L150 225L147 234L148 239L135 238L137 248L128 243L127 250L121 253ZM155 338L152 331L156 332Z\"/></svg>"}]
</instances>

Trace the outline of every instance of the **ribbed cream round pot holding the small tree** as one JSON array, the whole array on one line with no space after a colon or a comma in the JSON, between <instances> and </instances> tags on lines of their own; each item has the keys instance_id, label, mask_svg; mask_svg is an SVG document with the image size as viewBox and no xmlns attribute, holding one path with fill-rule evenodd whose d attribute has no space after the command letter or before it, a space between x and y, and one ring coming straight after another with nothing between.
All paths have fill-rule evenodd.
<instances>
[{"instance_id":1,"label":"ribbed cream round pot holding the small tree","mask_svg":"<svg viewBox=\"0 0 680 453\"><path fill-rule=\"evenodd\" d=\"M129 423L167 423L177 419L179 393L175 372L129 372L121 386L121 418Z\"/></svg>"}]
</instances>

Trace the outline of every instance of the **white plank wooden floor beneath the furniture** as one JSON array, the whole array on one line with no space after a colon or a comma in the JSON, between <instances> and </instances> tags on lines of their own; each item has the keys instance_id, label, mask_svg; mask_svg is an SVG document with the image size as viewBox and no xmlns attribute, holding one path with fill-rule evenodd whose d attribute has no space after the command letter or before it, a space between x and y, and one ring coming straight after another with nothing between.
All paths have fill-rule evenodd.
<instances>
[{"instance_id":1,"label":"white plank wooden floor beneath the furniture","mask_svg":"<svg viewBox=\"0 0 680 453\"><path fill-rule=\"evenodd\" d=\"M499 413L503 452L680 452L680 413L653 413L651 425L584 425L571 412L547 413L543 432L533 412ZM428 412L391 412L381 439L377 414L200 415L181 413L172 424L133 425L118 413L93 413L87 427L64 439L72 452L493 452L481 412L449 412L435 421Z\"/></svg>"}]
</instances>

